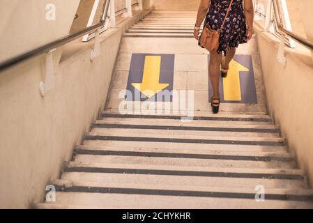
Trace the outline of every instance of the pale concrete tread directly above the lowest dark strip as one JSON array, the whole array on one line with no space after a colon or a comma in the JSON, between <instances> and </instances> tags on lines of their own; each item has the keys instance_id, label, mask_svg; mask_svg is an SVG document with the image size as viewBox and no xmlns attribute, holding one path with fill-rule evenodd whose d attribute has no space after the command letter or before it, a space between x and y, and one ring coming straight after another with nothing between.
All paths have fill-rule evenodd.
<instances>
[{"instance_id":1,"label":"pale concrete tread directly above the lowest dark strip","mask_svg":"<svg viewBox=\"0 0 313 223\"><path fill-rule=\"evenodd\" d=\"M253 178L223 178L201 176L167 176L153 174L109 174L109 173L81 173L65 172L63 180L82 180L102 183L119 184L152 184L152 185L194 185L201 187L245 187L255 188L263 185L266 188L289 188L293 190L307 188L303 180L274 180Z\"/></svg>"}]
</instances>

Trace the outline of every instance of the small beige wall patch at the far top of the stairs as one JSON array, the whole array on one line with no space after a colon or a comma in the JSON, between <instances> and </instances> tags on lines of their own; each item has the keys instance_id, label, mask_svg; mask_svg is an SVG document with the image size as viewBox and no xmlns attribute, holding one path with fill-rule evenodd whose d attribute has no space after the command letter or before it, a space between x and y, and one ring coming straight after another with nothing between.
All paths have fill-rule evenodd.
<instances>
[{"instance_id":1,"label":"small beige wall patch at the far top of the stairs","mask_svg":"<svg viewBox=\"0 0 313 223\"><path fill-rule=\"evenodd\" d=\"M153 0L156 10L198 10L200 0Z\"/></svg>"}]
</instances>

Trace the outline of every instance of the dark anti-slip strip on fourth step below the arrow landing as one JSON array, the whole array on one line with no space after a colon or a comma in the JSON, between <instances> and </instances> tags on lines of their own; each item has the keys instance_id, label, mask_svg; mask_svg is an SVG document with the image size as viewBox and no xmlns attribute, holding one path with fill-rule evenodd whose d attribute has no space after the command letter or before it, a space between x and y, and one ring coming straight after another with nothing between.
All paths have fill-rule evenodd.
<instances>
[{"instance_id":1,"label":"dark anti-slip strip on fourth step below the arrow landing","mask_svg":"<svg viewBox=\"0 0 313 223\"><path fill-rule=\"evenodd\" d=\"M245 155L211 155L211 154L190 154L190 153L150 153L150 152L132 152L132 151L100 151L84 150L76 148L74 153L80 155L116 155L116 156L134 156L134 157L169 157L185 159L203 159L203 160L241 160L241 161L260 161L260 162L291 162L292 157L270 157L270 156L245 156Z\"/></svg>"}]
</instances>

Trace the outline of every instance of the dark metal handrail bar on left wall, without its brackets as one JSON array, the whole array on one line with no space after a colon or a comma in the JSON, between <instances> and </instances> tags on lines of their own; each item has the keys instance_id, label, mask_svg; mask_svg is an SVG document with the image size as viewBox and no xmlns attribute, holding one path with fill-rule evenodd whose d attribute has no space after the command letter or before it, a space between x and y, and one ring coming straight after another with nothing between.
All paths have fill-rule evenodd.
<instances>
[{"instance_id":1,"label":"dark metal handrail bar on left wall, without its brackets","mask_svg":"<svg viewBox=\"0 0 313 223\"><path fill-rule=\"evenodd\" d=\"M101 11L101 17L100 17L100 21L98 22L98 24L94 24L93 26L89 26L85 29L77 31L76 33L72 33L72 34L69 34L68 36L64 36L63 38L60 38L59 40L55 40L51 43L47 43L46 45L43 45L43 46L38 47L36 49L32 49L29 52L21 54L20 56L15 56L12 59L8 59L7 61L0 63L0 72L3 70L6 70L8 68L12 68L13 66L17 65L18 63L22 63L23 61L26 61L26 60L31 59L33 57L48 53L52 49L56 49L57 47L61 47L62 45L65 45L66 43L70 43L72 40L76 40L77 38L82 37L86 34L89 34L92 31L96 31L96 29L99 29L100 27L104 26L105 22L107 20L107 13L109 10L110 1L111 0L105 0L105 2L103 3L103 7L102 7L102 11Z\"/></svg>"}]
</instances>

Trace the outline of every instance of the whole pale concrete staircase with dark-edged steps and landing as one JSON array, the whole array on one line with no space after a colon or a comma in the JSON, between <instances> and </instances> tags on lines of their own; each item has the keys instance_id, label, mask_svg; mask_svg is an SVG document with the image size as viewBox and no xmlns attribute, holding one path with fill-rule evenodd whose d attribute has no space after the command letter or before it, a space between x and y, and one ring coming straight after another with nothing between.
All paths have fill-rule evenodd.
<instances>
[{"instance_id":1,"label":"whole pale concrete staircase with dark-edged steps and landing","mask_svg":"<svg viewBox=\"0 0 313 223\"><path fill-rule=\"evenodd\" d=\"M201 89L207 71L179 64L186 55L190 64L206 59L191 38L195 15L153 11L125 33L105 111L75 148L61 179L52 182L56 202L36 208L313 208L305 175L267 114L261 79L257 105L224 103L213 115L208 92ZM174 40L184 43L184 54ZM254 44L242 50L252 54L258 76ZM176 54L174 89L183 88L182 82L197 88L194 121L119 113L118 93L127 84L130 56L138 52ZM258 192L265 201L256 199Z\"/></svg>"}]
</instances>

